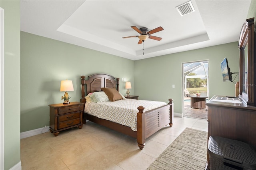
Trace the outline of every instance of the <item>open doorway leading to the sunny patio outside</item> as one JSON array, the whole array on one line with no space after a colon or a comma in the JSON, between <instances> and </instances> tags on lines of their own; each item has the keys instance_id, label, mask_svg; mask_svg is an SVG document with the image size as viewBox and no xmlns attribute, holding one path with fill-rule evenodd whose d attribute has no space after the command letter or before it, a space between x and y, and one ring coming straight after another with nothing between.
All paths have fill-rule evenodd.
<instances>
[{"instance_id":1,"label":"open doorway leading to the sunny patio outside","mask_svg":"<svg viewBox=\"0 0 256 170\"><path fill-rule=\"evenodd\" d=\"M207 119L205 102L209 97L209 61L184 62L183 65L183 112L184 117ZM199 95L199 96L198 96ZM196 98L195 98L196 97ZM196 99L196 100L195 100Z\"/></svg>"}]
</instances>

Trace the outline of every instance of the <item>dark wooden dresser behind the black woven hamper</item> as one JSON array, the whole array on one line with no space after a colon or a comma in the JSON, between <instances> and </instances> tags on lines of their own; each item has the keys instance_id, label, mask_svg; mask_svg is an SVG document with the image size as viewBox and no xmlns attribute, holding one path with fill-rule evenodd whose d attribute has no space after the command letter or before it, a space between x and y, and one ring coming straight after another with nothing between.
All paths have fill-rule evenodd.
<instances>
[{"instance_id":1,"label":"dark wooden dresser behind the black woven hamper","mask_svg":"<svg viewBox=\"0 0 256 170\"><path fill-rule=\"evenodd\" d=\"M220 136L239 140L250 144L256 150L256 107L244 102L236 104L214 101L216 97L226 96L214 96L206 103L208 139L210 136ZM207 155L207 162L209 162L209 155Z\"/></svg>"}]
</instances>

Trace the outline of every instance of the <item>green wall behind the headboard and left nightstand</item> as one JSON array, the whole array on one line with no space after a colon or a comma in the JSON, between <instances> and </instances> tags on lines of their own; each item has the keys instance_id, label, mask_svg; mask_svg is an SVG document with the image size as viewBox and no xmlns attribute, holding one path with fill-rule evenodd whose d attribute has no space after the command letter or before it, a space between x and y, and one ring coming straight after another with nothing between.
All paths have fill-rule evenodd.
<instances>
[{"instance_id":1,"label":"green wall behind the headboard and left nightstand","mask_svg":"<svg viewBox=\"0 0 256 170\"><path fill-rule=\"evenodd\" d=\"M80 101L81 78L107 73L126 78L134 87L134 61L42 36L20 33L21 42L21 109L20 131L49 126L49 104L62 103L61 80L72 80L70 101ZM120 92L126 95L125 82ZM134 94L134 88L131 90Z\"/></svg>"}]
</instances>

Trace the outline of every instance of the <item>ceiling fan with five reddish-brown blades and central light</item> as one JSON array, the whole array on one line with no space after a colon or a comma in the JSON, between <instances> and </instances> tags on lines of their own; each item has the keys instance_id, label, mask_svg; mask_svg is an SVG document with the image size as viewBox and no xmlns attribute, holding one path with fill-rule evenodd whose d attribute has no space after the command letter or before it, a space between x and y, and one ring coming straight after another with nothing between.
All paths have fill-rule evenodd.
<instances>
[{"instance_id":1,"label":"ceiling fan with five reddish-brown blades and central light","mask_svg":"<svg viewBox=\"0 0 256 170\"><path fill-rule=\"evenodd\" d=\"M123 37L123 38L131 38L131 37L138 37L140 40L138 42L138 44L141 44L142 42L144 42L146 39L150 38L150 39L153 39L153 40L162 40L161 37L157 37L157 36L152 36L151 34L154 34L156 32L159 32L159 31L162 31L164 30L164 28L162 28L162 26L158 27L158 28L155 28L151 31L148 31L148 28L146 27L143 27L143 28L140 28L138 29L136 26L131 26L135 31L137 31L140 36L127 36L127 37Z\"/></svg>"}]
</instances>

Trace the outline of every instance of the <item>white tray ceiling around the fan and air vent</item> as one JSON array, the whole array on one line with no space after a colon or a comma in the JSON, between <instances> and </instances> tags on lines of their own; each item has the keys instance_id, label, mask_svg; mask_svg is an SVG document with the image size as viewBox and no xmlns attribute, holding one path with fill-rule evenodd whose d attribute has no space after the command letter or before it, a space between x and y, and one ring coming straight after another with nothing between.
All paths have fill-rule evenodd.
<instances>
[{"instance_id":1,"label":"white tray ceiling around the fan and air vent","mask_svg":"<svg viewBox=\"0 0 256 170\"><path fill-rule=\"evenodd\" d=\"M180 16L188 0L21 0L21 31L140 60L238 41L251 0L191 0L195 12ZM147 39L130 26L164 30ZM142 48L144 45L144 55Z\"/></svg>"}]
</instances>

